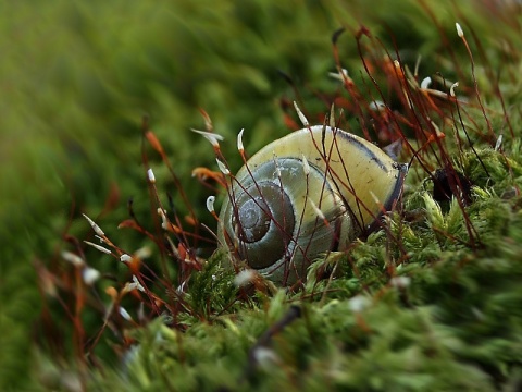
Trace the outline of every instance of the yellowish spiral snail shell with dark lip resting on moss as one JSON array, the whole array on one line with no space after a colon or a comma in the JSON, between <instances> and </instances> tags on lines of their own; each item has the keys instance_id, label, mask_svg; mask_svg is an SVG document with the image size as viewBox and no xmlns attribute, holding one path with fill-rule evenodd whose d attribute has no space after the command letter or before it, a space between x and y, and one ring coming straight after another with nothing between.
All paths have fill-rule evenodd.
<instances>
[{"instance_id":1,"label":"yellowish spiral snail shell with dark lip resting on moss","mask_svg":"<svg viewBox=\"0 0 522 392\"><path fill-rule=\"evenodd\" d=\"M233 179L217 236L282 285L304 280L321 254L378 226L399 197L407 166L365 139L316 125L277 139Z\"/></svg>"}]
</instances>

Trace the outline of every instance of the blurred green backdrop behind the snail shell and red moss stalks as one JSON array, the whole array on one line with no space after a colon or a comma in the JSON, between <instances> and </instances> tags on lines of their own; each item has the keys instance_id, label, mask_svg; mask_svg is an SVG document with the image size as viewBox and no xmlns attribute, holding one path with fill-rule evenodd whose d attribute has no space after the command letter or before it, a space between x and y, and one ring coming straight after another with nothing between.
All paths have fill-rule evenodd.
<instances>
[{"instance_id":1,"label":"blurred green backdrop behind the snail shell and red moss stalks","mask_svg":"<svg viewBox=\"0 0 522 392\"><path fill-rule=\"evenodd\" d=\"M281 102L296 95L279 71L295 81L309 111L328 110L319 96L338 88L327 73L335 71L331 37L339 27L347 29L339 40L341 61L355 78L362 69L353 38L361 24L386 45L395 41L409 64L422 54L423 73L445 66L449 73L451 64L437 51L459 42L456 21L473 27L488 54L501 53L502 45L520 40L517 26L505 28L505 16L517 7L410 0L2 2L0 379L25 385L32 341L40 333L34 324L40 306L34 265L55 257L67 230L87 236L79 212L112 229L120 245L139 247L140 237L115 226L127 216L128 197L138 215L148 213L142 115L197 215L211 224L209 191L190 176L195 167L215 162L210 145L189 131L204 127L199 108L226 137L223 148L237 169L240 128L252 151L288 132ZM461 46L459 51L464 53ZM492 68L501 59L489 56ZM153 154L151 166L160 192L175 193ZM119 197L108 206L114 187Z\"/></svg>"}]
</instances>

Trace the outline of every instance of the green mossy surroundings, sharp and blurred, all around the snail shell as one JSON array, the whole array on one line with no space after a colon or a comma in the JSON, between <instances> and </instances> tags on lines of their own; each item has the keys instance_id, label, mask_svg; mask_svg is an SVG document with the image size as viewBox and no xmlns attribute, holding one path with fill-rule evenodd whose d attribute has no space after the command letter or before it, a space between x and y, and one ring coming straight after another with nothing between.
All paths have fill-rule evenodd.
<instances>
[{"instance_id":1,"label":"green mossy surroundings, sharp and blurred, all around the snail shell","mask_svg":"<svg viewBox=\"0 0 522 392\"><path fill-rule=\"evenodd\" d=\"M0 83L9 96L0 147L2 390L520 389L519 3L58 1L1 9ZM470 42L485 117L456 22ZM363 56L355 39L361 24L382 42L363 37ZM188 213L158 154L140 150L141 117L149 115L194 213L213 226L204 208L213 191L190 177L196 166L214 166L210 146L188 131L203 127L198 108L226 136L222 149L236 169L237 131L247 128L247 148L257 150L289 132L297 117L287 102L295 99L318 123L335 100L344 125L357 132L364 117L327 76L336 69L331 37L340 26L338 56L361 101L385 99L400 119L430 114L446 137L421 148L425 140L411 130L426 117L419 126L401 123L420 151L401 208L348 254L318 260L301 290L263 282L238 289L222 268L226 256L209 256L212 244L200 242L206 261L177 297L182 272L165 261L161 244L115 229L133 196L137 219L163 237L144 156L162 204L169 192L176 213ZM439 113L421 109L426 101L417 90L409 108L383 48L412 71L422 54L420 75L458 81L461 112L447 101ZM382 65L370 70L378 90L363 60ZM428 173L447 163L472 184L467 206L431 196ZM141 310L151 302L134 291L117 302L133 321L109 314L104 323L110 289L121 293L137 271L76 244L92 240L80 212L96 217L122 249L152 249L150 271L141 271L158 280L144 284L175 311ZM78 253L102 277L83 284L62 250ZM335 279L318 279L334 267Z\"/></svg>"}]
</instances>

